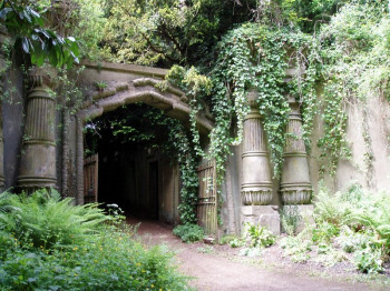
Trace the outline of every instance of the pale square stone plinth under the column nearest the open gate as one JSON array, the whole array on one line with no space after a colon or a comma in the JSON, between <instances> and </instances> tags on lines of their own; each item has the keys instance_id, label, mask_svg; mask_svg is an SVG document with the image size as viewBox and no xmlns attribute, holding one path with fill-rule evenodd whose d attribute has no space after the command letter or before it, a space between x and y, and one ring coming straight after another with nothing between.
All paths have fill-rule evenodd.
<instances>
[{"instance_id":1,"label":"pale square stone plinth under the column nearest the open gate","mask_svg":"<svg viewBox=\"0 0 390 291\"><path fill-rule=\"evenodd\" d=\"M242 205L242 227L244 227L245 222L260 224L273 234L279 235L281 234L281 221L277 209L277 205Z\"/></svg>"}]
</instances>

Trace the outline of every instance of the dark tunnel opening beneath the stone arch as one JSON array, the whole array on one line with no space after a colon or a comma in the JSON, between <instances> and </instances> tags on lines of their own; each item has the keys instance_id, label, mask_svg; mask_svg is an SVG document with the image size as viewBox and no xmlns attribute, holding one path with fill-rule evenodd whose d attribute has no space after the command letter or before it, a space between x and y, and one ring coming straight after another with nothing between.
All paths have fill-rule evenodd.
<instances>
[{"instance_id":1,"label":"dark tunnel opening beneath the stone arch","mask_svg":"<svg viewBox=\"0 0 390 291\"><path fill-rule=\"evenodd\" d=\"M117 204L134 218L178 223L179 172L169 144L174 122L143 103L87 122L84 143L86 155L98 157L92 187L99 203ZM90 188L86 181L85 195L94 192Z\"/></svg>"}]
</instances>

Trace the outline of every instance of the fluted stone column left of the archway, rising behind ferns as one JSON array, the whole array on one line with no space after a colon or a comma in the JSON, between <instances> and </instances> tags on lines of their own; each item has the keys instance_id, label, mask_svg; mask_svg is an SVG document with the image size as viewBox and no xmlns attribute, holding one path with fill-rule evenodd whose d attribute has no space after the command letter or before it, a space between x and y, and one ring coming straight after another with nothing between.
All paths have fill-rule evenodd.
<instances>
[{"instance_id":1,"label":"fluted stone column left of the archway, rising behind ferns","mask_svg":"<svg viewBox=\"0 0 390 291\"><path fill-rule=\"evenodd\" d=\"M25 137L18 185L22 189L55 188L56 171L56 102L50 96L55 71L35 69L30 72L32 89L27 98Z\"/></svg>"}]
</instances>

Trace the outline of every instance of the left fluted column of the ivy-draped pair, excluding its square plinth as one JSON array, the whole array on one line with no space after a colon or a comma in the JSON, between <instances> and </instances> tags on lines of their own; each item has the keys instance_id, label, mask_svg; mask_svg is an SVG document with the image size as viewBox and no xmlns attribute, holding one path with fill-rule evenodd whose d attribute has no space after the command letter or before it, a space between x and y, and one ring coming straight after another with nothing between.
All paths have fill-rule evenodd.
<instances>
[{"instance_id":1,"label":"left fluted column of the ivy-draped pair, excluding its square plinth","mask_svg":"<svg viewBox=\"0 0 390 291\"><path fill-rule=\"evenodd\" d=\"M252 90L247 98L251 111L244 120L242 202L266 205L272 200L270 154L256 103L257 92Z\"/></svg>"}]
</instances>

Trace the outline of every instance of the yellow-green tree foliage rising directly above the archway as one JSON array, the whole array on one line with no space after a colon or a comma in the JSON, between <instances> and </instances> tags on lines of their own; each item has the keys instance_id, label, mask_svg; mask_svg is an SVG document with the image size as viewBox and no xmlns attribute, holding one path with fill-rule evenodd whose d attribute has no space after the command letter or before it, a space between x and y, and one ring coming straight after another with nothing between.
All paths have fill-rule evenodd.
<instances>
[{"instance_id":1,"label":"yellow-green tree foliage rising directly above the archway","mask_svg":"<svg viewBox=\"0 0 390 291\"><path fill-rule=\"evenodd\" d=\"M105 48L120 62L208 67L220 36L251 19L253 1L241 2L107 0Z\"/></svg>"}]
</instances>

